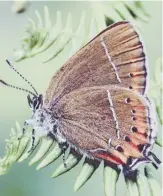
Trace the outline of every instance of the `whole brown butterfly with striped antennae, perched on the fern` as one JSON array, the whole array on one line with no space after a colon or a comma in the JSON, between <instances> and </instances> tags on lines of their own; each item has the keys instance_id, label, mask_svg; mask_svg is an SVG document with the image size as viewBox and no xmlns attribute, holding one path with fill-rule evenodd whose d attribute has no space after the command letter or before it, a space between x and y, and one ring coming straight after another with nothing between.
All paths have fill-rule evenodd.
<instances>
[{"instance_id":1,"label":"whole brown butterfly with striped antennae, perched on the fern","mask_svg":"<svg viewBox=\"0 0 163 196\"><path fill-rule=\"evenodd\" d=\"M26 80L7 61L24 80ZM0 80L28 93L35 132L56 140L90 159L104 160L135 171L141 163L159 163L152 153L156 118L146 97L148 71L144 46L133 25L117 22L81 48L53 76L45 97Z\"/></svg>"}]
</instances>

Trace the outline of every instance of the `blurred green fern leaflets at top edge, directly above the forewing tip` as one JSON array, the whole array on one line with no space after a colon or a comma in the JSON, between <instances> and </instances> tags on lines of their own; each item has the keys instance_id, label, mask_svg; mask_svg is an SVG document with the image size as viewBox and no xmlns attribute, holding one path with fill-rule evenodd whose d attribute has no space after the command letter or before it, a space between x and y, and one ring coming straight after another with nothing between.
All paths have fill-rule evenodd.
<instances>
[{"instance_id":1,"label":"blurred green fern leaflets at top edge, directly above the forewing tip","mask_svg":"<svg viewBox=\"0 0 163 196\"><path fill-rule=\"evenodd\" d=\"M141 26L142 21L148 22L149 19L141 1L106 1L98 6L93 5L93 8L96 13L99 10L103 13L107 26L121 20L129 20L136 26Z\"/></svg>"}]
</instances>

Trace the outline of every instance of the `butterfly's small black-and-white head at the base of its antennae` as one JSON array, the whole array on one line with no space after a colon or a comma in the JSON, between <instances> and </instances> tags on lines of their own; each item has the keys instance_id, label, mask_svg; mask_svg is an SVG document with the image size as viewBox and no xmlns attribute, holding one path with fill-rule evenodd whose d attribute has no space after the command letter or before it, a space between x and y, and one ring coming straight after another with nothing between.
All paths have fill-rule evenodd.
<instances>
[{"instance_id":1,"label":"butterfly's small black-and-white head at the base of its antennae","mask_svg":"<svg viewBox=\"0 0 163 196\"><path fill-rule=\"evenodd\" d=\"M34 95L32 98L30 95L27 96L29 107L32 109L33 112L36 112L36 110L42 108L43 105L43 96L40 95Z\"/></svg>"}]
</instances>

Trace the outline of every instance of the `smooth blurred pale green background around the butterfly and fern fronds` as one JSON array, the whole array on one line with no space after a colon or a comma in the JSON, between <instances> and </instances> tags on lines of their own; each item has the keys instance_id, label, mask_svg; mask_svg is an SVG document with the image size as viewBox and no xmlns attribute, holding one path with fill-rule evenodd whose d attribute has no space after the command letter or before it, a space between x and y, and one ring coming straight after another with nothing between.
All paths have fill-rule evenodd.
<instances>
[{"instance_id":1,"label":"smooth blurred pale green background around the butterfly and fern fronds","mask_svg":"<svg viewBox=\"0 0 163 196\"><path fill-rule=\"evenodd\" d=\"M47 5L52 21L55 21L57 10L63 13L63 21L66 20L67 13L71 12L73 15L73 25L76 27L83 10L91 15L92 4L98 5L97 2L31 2L26 12L17 15L11 12L11 2L0 2L0 78L9 83L27 87L7 66L5 59L8 58L12 61L13 48L18 46L20 36L23 34L24 25L27 24L28 16L35 18L35 9L43 13L43 6ZM150 70L152 70L155 68L156 60L161 57L162 52L162 5L161 1L146 1L144 5L151 17L149 22L143 25L142 37L147 48ZM47 53L45 52L34 58L25 59L24 61L15 63L15 65L32 82L36 89L44 94L49 80L58 67L60 67L62 61L61 57L58 56L48 64L42 64L41 59L43 55L47 55ZM14 126L15 120L18 120L22 125L28 116L30 116L30 110L27 105L26 94L0 86L1 156L4 155L5 139L9 137L10 129ZM156 148L156 151L157 154L161 152L159 148ZM79 192L74 193L73 185L81 169L82 161L73 170L57 179L51 179L50 176L62 162L62 158L41 171L35 170L36 165L28 167L28 162L29 159L21 164L14 164L7 175L0 176L0 196L104 195L102 164L91 180ZM155 176L161 182L161 173L156 171ZM117 195L126 196L125 183L122 176L120 176L118 182Z\"/></svg>"}]
</instances>

